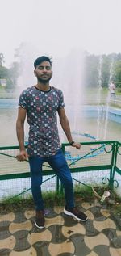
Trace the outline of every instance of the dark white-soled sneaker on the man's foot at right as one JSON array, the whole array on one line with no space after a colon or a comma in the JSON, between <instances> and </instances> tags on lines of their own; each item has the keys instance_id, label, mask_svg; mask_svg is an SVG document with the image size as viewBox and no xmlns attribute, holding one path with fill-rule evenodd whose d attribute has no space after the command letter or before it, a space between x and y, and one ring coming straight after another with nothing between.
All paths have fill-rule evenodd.
<instances>
[{"instance_id":1,"label":"dark white-soled sneaker on the man's foot at right","mask_svg":"<svg viewBox=\"0 0 121 256\"><path fill-rule=\"evenodd\" d=\"M85 213L81 212L79 208L73 207L73 208L67 208L65 206L64 213L73 216L77 220L86 221L87 216Z\"/></svg>"}]
</instances>

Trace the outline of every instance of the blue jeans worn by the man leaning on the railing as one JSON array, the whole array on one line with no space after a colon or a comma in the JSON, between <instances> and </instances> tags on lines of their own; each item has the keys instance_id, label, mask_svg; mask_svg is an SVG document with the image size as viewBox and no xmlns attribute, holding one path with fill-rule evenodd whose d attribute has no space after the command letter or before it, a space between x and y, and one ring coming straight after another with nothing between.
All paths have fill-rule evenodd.
<instances>
[{"instance_id":1,"label":"blue jeans worn by the man leaning on the railing","mask_svg":"<svg viewBox=\"0 0 121 256\"><path fill-rule=\"evenodd\" d=\"M60 178L65 189L65 204L68 208L74 207L73 195L73 180L70 174L69 167L65 160L65 156L60 149L54 156L51 157L29 157L31 170L31 191L35 202L36 210L44 209L44 201L42 199L41 184L42 184L42 164L48 164L55 170L56 175Z\"/></svg>"}]
</instances>

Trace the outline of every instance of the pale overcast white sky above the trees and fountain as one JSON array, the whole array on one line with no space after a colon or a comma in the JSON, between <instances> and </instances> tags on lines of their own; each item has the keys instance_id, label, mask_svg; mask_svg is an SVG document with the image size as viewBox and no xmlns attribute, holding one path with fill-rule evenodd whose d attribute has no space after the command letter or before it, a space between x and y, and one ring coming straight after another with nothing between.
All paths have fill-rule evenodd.
<instances>
[{"instance_id":1,"label":"pale overcast white sky above the trees and fountain","mask_svg":"<svg viewBox=\"0 0 121 256\"><path fill-rule=\"evenodd\" d=\"M0 53L5 65L27 42L36 54L65 57L72 49L121 52L121 0L0 0Z\"/></svg>"}]
</instances>

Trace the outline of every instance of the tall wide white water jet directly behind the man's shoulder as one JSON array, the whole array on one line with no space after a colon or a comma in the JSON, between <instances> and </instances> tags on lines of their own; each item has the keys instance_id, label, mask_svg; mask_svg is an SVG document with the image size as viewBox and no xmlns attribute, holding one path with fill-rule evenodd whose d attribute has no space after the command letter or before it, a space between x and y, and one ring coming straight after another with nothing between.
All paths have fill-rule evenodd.
<instances>
[{"instance_id":1,"label":"tall wide white water jet directly behind the man's shoulder","mask_svg":"<svg viewBox=\"0 0 121 256\"><path fill-rule=\"evenodd\" d=\"M82 105L84 99L83 63L84 52L81 50L72 50L67 57L56 59L53 61L52 65L54 71L52 84L63 91L65 111L69 117L69 124L72 132L81 132L81 125L77 116L79 115L82 118ZM60 125L59 129L61 130ZM65 135L61 132L60 140L66 140Z\"/></svg>"}]
</instances>

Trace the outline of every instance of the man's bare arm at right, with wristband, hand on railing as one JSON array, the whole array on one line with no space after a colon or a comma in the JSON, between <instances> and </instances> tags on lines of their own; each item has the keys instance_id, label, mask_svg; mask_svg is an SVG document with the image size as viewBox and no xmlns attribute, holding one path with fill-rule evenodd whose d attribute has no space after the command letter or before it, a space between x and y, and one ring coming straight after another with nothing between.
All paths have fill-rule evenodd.
<instances>
[{"instance_id":1,"label":"man's bare arm at right, with wristband, hand on railing","mask_svg":"<svg viewBox=\"0 0 121 256\"><path fill-rule=\"evenodd\" d=\"M73 141L73 137L70 131L69 120L65 114L65 109L63 107L58 109L58 115L60 117L61 127L63 128L69 143L71 143ZM73 142L72 146L76 147L77 149L81 148L81 144L77 142Z\"/></svg>"}]
</instances>

